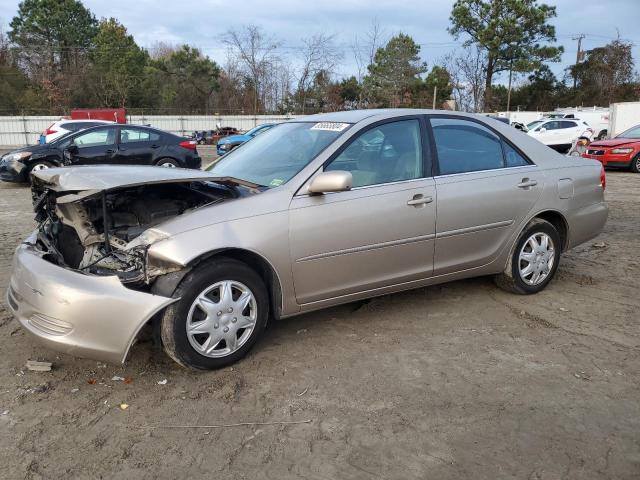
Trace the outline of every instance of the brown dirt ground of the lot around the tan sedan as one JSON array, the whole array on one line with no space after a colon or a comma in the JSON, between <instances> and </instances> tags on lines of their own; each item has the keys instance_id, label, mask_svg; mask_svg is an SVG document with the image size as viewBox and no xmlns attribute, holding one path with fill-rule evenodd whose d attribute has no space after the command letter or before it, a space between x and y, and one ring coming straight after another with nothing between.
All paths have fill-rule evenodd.
<instances>
[{"instance_id":1,"label":"brown dirt ground of the lot around the tan sedan","mask_svg":"<svg viewBox=\"0 0 640 480\"><path fill-rule=\"evenodd\" d=\"M221 371L149 340L123 366L56 354L2 307L0 476L640 478L640 175L606 196L605 232L536 296L478 278L333 308ZM31 228L28 189L1 185L3 296ZM213 427L268 422L306 423Z\"/></svg>"}]
</instances>

